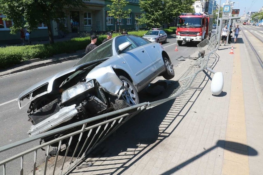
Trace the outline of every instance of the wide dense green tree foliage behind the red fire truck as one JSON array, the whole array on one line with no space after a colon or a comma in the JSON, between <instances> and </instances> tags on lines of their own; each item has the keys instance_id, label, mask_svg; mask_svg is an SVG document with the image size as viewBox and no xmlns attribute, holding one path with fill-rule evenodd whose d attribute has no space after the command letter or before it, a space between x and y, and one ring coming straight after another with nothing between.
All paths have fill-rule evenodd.
<instances>
[{"instance_id":1,"label":"wide dense green tree foliage behind the red fire truck","mask_svg":"<svg viewBox=\"0 0 263 175\"><path fill-rule=\"evenodd\" d=\"M139 25L161 27L169 24L181 13L192 13L194 0L140 0L139 5L145 13L138 20Z\"/></svg>"}]
</instances>

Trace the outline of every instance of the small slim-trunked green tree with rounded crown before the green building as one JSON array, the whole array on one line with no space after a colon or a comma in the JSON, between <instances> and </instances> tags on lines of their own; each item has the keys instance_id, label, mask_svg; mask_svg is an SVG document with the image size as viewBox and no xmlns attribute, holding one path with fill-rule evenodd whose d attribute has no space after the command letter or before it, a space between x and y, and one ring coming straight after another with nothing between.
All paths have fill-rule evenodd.
<instances>
[{"instance_id":1,"label":"small slim-trunked green tree with rounded crown before the green building","mask_svg":"<svg viewBox=\"0 0 263 175\"><path fill-rule=\"evenodd\" d=\"M131 9L124 10L126 5L129 3L126 0L111 0L112 4L107 5L110 8L108 14L113 16L113 18L118 19L120 21L123 18L127 18L131 13ZM119 24L119 33L120 33L120 24Z\"/></svg>"}]
</instances>

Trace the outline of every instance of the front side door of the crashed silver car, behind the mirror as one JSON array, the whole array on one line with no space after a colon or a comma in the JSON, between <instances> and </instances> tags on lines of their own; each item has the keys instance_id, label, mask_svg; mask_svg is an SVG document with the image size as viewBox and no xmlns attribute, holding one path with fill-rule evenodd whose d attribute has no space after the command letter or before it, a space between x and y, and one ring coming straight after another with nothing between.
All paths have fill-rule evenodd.
<instances>
[{"instance_id":1,"label":"front side door of the crashed silver car, behind the mirror","mask_svg":"<svg viewBox=\"0 0 263 175\"><path fill-rule=\"evenodd\" d=\"M128 35L123 35L118 37L115 41L116 49L118 50L119 45L130 41L132 46L126 49L120 56L123 57L125 62L123 64L128 64L133 75L131 78L135 81L135 84L143 84L149 77L155 72L155 67L152 64L152 60L145 51L143 47L137 45L134 41L127 37Z\"/></svg>"}]
</instances>

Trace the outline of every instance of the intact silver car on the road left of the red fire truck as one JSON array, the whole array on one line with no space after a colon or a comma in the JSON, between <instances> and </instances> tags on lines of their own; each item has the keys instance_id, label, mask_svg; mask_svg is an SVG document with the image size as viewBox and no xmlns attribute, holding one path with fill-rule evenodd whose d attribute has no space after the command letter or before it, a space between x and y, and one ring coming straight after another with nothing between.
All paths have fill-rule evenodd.
<instances>
[{"instance_id":1,"label":"intact silver car on the road left of the red fire truck","mask_svg":"<svg viewBox=\"0 0 263 175\"><path fill-rule=\"evenodd\" d=\"M167 34L165 33L165 31L158 29L148 31L146 34L144 34L143 38L156 43L167 42Z\"/></svg>"}]
</instances>

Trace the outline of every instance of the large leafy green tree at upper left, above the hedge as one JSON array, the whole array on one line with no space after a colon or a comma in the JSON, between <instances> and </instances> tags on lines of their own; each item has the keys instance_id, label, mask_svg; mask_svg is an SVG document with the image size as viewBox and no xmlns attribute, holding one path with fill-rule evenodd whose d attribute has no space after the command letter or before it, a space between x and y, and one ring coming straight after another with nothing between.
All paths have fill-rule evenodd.
<instances>
[{"instance_id":1,"label":"large leafy green tree at upper left, above the hedge","mask_svg":"<svg viewBox=\"0 0 263 175\"><path fill-rule=\"evenodd\" d=\"M12 20L10 33L16 34L21 28L28 31L37 29L44 23L48 27L50 43L54 43L51 22L65 18L64 7L85 8L82 0L0 0L0 11L6 15L4 20Z\"/></svg>"}]
</instances>

